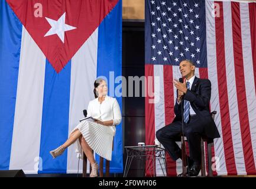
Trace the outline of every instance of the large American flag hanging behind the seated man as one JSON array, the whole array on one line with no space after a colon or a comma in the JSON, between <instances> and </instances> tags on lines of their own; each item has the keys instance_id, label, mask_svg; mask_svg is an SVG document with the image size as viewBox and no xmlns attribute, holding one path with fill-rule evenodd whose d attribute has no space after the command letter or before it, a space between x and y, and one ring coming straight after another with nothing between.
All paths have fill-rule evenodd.
<instances>
[{"instance_id":1,"label":"large American flag hanging behind the seated man","mask_svg":"<svg viewBox=\"0 0 256 189\"><path fill-rule=\"evenodd\" d=\"M174 118L172 81L187 58L196 76L212 83L210 107L221 135L212 148L213 174L256 174L255 2L148 0L145 7L145 76L154 92L145 98L146 143L154 144L155 132ZM167 156L167 174L181 172L182 162Z\"/></svg>"}]
</instances>

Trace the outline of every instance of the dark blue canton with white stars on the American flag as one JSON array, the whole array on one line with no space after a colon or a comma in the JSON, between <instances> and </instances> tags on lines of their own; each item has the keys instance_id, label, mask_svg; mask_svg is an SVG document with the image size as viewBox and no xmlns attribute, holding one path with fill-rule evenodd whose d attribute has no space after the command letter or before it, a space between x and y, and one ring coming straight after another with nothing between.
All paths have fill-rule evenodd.
<instances>
[{"instance_id":1,"label":"dark blue canton with white stars on the American flag","mask_svg":"<svg viewBox=\"0 0 256 189\"><path fill-rule=\"evenodd\" d=\"M200 5L195 2L150 1L151 60L200 64Z\"/></svg>"}]
</instances>

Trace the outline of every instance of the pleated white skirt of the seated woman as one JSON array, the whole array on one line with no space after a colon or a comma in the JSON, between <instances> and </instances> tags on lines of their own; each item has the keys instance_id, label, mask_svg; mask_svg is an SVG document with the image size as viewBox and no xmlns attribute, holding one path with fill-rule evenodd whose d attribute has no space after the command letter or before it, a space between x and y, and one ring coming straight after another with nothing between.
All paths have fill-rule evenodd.
<instances>
[{"instance_id":1,"label":"pleated white skirt of the seated woman","mask_svg":"<svg viewBox=\"0 0 256 189\"><path fill-rule=\"evenodd\" d=\"M115 126L104 126L95 122L83 120L73 129L73 131L76 131L76 129L82 133L83 138L85 138L85 141L96 154L111 161ZM83 153L80 153L82 152L82 147L79 143L79 139L77 139L76 145L77 158L82 158Z\"/></svg>"}]
</instances>

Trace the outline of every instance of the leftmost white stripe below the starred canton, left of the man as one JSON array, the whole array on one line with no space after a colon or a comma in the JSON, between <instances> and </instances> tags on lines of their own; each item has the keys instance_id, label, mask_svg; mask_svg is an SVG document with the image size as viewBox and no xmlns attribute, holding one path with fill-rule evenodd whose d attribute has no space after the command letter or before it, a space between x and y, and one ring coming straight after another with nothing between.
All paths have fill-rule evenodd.
<instances>
[{"instance_id":1,"label":"leftmost white stripe below the starred canton, left of the man","mask_svg":"<svg viewBox=\"0 0 256 189\"><path fill-rule=\"evenodd\" d=\"M155 107L155 132L158 131L159 129L163 128L166 126L165 123L165 108L164 108L164 70L163 70L163 65L154 65L154 92L155 92L155 97L156 99L159 99L155 102L154 107ZM161 165L162 168L164 168L164 162L163 161L158 161L158 159L155 159L155 170L156 170L156 175L157 176L163 176L166 175L166 170L163 171L161 170Z\"/></svg>"}]
</instances>

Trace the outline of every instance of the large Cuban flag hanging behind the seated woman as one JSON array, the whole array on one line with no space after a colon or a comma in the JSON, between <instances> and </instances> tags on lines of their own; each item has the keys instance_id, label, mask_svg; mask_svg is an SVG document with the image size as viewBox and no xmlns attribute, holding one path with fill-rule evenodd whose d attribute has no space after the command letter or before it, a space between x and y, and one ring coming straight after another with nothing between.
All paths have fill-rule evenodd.
<instances>
[{"instance_id":1,"label":"large Cuban flag hanging behind the seated woman","mask_svg":"<svg viewBox=\"0 0 256 189\"><path fill-rule=\"evenodd\" d=\"M74 145L49 151L83 118L96 77L121 76L121 32L121 0L1 0L0 170L77 172ZM121 125L111 172L123 171Z\"/></svg>"}]
</instances>

